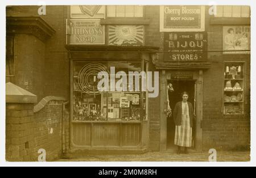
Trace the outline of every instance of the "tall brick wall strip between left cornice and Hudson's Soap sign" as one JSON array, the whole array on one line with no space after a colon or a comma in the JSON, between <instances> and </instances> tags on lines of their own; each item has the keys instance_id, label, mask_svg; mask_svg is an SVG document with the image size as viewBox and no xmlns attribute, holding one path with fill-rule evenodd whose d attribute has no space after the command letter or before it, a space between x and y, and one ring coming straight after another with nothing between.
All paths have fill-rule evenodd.
<instances>
[{"instance_id":1,"label":"tall brick wall strip between left cornice and Hudson's Soap sign","mask_svg":"<svg viewBox=\"0 0 256 178\"><path fill-rule=\"evenodd\" d=\"M68 6L47 6L42 16L56 33L46 41L45 95L69 98L69 58L65 49ZM57 71L57 72L56 72Z\"/></svg>"}]
</instances>

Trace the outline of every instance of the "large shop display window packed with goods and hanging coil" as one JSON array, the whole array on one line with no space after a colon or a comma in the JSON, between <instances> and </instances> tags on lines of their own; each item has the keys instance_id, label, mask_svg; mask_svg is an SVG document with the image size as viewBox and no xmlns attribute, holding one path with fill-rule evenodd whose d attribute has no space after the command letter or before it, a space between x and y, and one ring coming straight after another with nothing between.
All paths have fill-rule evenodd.
<instances>
[{"instance_id":1,"label":"large shop display window packed with goods and hanging coil","mask_svg":"<svg viewBox=\"0 0 256 178\"><path fill-rule=\"evenodd\" d=\"M138 76L139 84L129 82L129 71L140 73L147 63L141 62L81 62L73 65L73 121L141 121L147 120L147 91L142 91L142 78ZM110 67L115 67L111 73ZM123 71L127 74L127 86L120 84L115 91L99 91L100 79L98 72L108 73L110 81L117 84L117 74ZM122 78L122 77L121 77ZM124 80L124 79L123 79ZM125 82L123 82L125 83ZM104 86L104 85L103 85ZM117 85L116 85L117 86Z\"/></svg>"}]
</instances>

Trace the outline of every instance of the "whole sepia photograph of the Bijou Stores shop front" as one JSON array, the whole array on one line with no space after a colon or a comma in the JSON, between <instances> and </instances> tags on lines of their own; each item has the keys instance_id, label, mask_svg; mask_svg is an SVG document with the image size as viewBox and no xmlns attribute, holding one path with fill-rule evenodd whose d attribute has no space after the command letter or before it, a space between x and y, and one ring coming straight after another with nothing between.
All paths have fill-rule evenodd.
<instances>
[{"instance_id":1,"label":"whole sepia photograph of the Bijou Stores shop front","mask_svg":"<svg viewBox=\"0 0 256 178\"><path fill-rule=\"evenodd\" d=\"M249 5L5 8L6 162L251 161Z\"/></svg>"}]
</instances>

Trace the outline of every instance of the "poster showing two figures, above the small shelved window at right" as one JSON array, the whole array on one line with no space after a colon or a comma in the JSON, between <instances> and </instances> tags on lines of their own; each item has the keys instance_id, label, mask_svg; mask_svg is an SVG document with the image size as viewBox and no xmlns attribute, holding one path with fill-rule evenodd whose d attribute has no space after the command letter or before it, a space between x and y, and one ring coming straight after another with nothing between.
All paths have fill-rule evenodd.
<instances>
[{"instance_id":1,"label":"poster showing two figures, above the small shelved window at right","mask_svg":"<svg viewBox=\"0 0 256 178\"><path fill-rule=\"evenodd\" d=\"M251 49L250 26L223 27L224 54L250 54Z\"/></svg>"}]
</instances>

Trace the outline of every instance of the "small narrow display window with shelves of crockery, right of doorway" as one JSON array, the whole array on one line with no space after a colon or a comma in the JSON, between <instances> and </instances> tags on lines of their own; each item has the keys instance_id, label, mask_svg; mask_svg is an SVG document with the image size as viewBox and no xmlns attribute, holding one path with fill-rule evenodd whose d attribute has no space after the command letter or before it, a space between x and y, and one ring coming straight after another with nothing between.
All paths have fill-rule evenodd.
<instances>
[{"instance_id":1,"label":"small narrow display window with shelves of crockery, right of doorway","mask_svg":"<svg viewBox=\"0 0 256 178\"><path fill-rule=\"evenodd\" d=\"M243 115L245 97L245 65L225 62L224 115Z\"/></svg>"}]
</instances>

